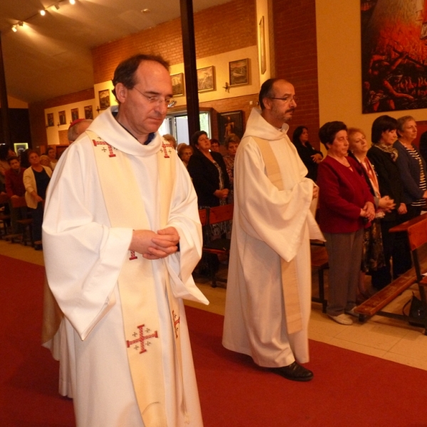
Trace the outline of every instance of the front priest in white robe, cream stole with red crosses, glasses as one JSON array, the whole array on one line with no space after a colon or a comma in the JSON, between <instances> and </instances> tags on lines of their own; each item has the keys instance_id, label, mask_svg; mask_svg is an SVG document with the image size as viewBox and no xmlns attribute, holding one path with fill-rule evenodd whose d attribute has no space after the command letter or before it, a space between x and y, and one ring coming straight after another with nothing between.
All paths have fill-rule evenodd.
<instances>
[{"instance_id":1,"label":"front priest in white robe, cream stole with red crosses, glasses","mask_svg":"<svg viewBox=\"0 0 427 427\"><path fill-rule=\"evenodd\" d=\"M123 61L119 107L60 158L43 248L64 313L78 427L202 426L182 298L208 303L194 188L157 133L172 97L167 63Z\"/></svg>"}]
</instances>

